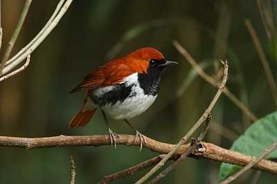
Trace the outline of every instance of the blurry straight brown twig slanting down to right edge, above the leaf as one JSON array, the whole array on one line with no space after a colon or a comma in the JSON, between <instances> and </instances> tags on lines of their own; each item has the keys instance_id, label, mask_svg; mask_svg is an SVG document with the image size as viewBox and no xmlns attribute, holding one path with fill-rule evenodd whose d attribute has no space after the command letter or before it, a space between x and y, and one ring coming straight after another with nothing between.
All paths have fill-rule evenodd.
<instances>
[{"instance_id":1,"label":"blurry straight brown twig slanting down to right edge, above the leaf","mask_svg":"<svg viewBox=\"0 0 277 184\"><path fill-rule=\"evenodd\" d=\"M262 46L260 45L260 40L258 38L256 31L254 30L253 26L251 25L251 22L249 21L249 19L246 19L244 23L247 26L247 29L252 37L253 44L255 45L257 53L260 57L260 62L262 63L262 66L265 70L265 75L267 76L267 81L269 82L269 87L271 89L271 93L274 97L275 104L277 107L277 86L276 86L274 77L272 75L272 72L270 70L269 62L267 61L267 57L265 56L265 53L262 50Z\"/></svg>"}]
</instances>

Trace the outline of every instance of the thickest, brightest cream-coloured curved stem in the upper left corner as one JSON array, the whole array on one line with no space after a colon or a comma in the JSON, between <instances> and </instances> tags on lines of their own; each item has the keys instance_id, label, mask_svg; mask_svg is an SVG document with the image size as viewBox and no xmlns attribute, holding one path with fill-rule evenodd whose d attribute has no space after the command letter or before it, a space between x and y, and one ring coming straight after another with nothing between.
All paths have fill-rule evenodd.
<instances>
[{"instance_id":1,"label":"thickest, brightest cream-coloured curved stem in the upper left corner","mask_svg":"<svg viewBox=\"0 0 277 184\"><path fill-rule=\"evenodd\" d=\"M60 12L58 12L57 16L55 17L55 19L53 19L53 21L51 22L51 24L46 28L46 30L44 30L44 33L42 33L36 40L35 42L29 47L27 48L27 50L22 53L21 55L19 55L17 57L17 59L15 59L12 63L10 63L8 66L6 66L5 68L3 68L3 74L6 74L8 72L10 72L12 70L12 68L15 68L15 66L17 66L17 64L19 64L20 62L22 62L22 60L24 60L27 55L30 55L30 53L33 53L33 50L35 50L37 48L37 46L39 46L39 44L41 44L44 39L51 33L51 31L55 28L55 26L57 26L57 24L59 23L60 19L62 19L62 16L64 15L64 13L66 12L66 10L69 8L69 6L71 5L73 0L67 0L64 5L62 6L62 8L60 9ZM60 5L60 4L59 4ZM9 61L8 61L9 62Z\"/></svg>"}]
</instances>

